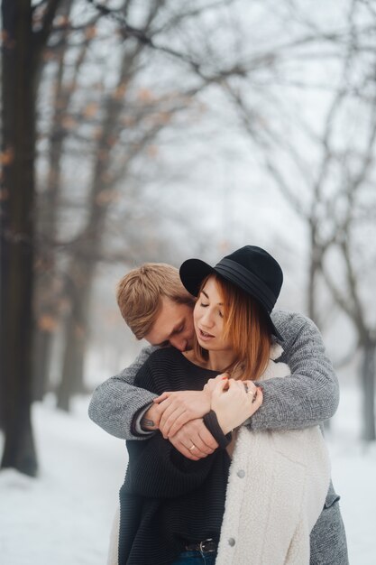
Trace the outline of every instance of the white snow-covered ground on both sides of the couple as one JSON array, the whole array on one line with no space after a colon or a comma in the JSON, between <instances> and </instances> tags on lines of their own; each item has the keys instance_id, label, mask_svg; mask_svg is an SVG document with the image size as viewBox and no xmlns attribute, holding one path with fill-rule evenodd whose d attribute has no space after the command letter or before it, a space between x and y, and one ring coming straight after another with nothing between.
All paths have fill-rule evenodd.
<instances>
[{"instance_id":1,"label":"white snow-covered ground on both sides of the couple","mask_svg":"<svg viewBox=\"0 0 376 565\"><path fill-rule=\"evenodd\" d=\"M357 440L356 393L343 394L328 443L352 565L376 562L376 446ZM124 442L87 418L87 399L72 414L36 404L33 424L40 476L0 473L1 565L104 565L124 478ZM0 446L1 449L1 446Z\"/></svg>"}]
</instances>

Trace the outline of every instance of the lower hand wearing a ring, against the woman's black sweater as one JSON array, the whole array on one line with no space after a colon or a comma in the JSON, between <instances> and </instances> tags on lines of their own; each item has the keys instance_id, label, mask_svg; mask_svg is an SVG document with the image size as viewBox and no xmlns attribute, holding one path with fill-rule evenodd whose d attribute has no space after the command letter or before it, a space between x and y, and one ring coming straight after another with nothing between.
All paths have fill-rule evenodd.
<instances>
[{"instance_id":1,"label":"lower hand wearing a ring, against the woman's black sweater","mask_svg":"<svg viewBox=\"0 0 376 565\"><path fill-rule=\"evenodd\" d=\"M188 421L169 439L174 448L192 461L207 457L218 447L202 418Z\"/></svg>"}]
</instances>

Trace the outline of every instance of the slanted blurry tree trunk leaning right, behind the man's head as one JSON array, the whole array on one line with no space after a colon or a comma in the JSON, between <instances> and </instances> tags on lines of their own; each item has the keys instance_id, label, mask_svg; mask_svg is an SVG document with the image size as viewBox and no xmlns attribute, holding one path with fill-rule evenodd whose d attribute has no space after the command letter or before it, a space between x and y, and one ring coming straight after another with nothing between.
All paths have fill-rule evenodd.
<instances>
[{"instance_id":1,"label":"slanted blurry tree trunk leaning right, behind the man's head","mask_svg":"<svg viewBox=\"0 0 376 565\"><path fill-rule=\"evenodd\" d=\"M159 2L151 6L145 30L158 14L160 7ZM124 8L126 8L126 3ZM114 95L117 91L121 91L127 81L133 77L136 62L143 50L144 45L138 42L131 51L124 51ZM88 308L96 263L102 249L105 218L110 206L109 201L100 197L101 193L105 194L106 190L113 188L112 149L116 142L115 132L117 131L117 135L120 134L116 126L123 106L124 101L116 96L107 97L101 125L102 132L96 145L97 158L94 162L87 202L87 225L82 230L79 244L75 246L69 269L67 295L71 304L71 318L67 320L65 329L63 370L58 391L58 406L64 410L69 410L70 395L74 392L81 392L84 388L83 369L88 334ZM128 154L127 159L131 160L132 157Z\"/></svg>"}]
</instances>

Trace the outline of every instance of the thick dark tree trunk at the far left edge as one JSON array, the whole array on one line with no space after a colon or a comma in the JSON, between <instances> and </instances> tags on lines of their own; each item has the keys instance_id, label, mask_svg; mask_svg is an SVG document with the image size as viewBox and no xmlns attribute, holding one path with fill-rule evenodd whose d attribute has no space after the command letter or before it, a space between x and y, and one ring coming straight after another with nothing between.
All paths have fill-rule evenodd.
<instances>
[{"instance_id":1,"label":"thick dark tree trunk at the far left edge","mask_svg":"<svg viewBox=\"0 0 376 565\"><path fill-rule=\"evenodd\" d=\"M34 476L32 288L35 90L30 0L3 0L3 187L1 205L2 468Z\"/></svg>"}]
</instances>

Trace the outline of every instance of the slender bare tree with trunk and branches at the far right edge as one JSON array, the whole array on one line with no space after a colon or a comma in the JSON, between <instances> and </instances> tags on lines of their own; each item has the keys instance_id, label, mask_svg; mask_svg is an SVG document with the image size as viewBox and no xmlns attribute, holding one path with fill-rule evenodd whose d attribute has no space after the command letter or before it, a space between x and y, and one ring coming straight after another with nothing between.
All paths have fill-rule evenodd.
<instances>
[{"instance_id":1,"label":"slender bare tree with trunk and branches at the far right edge","mask_svg":"<svg viewBox=\"0 0 376 565\"><path fill-rule=\"evenodd\" d=\"M335 222L335 255L332 259L331 255L325 257L320 268L335 303L355 329L355 347L362 357L362 439L373 441L376 440L376 320L372 315L371 302L376 250L370 234L376 235L376 199L372 190L375 182L372 165L376 156L376 107L371 108L368 125L369 136L364 152L355 157L357 166L349 166L350 155L346 155L344 160L342 218ZM364 247L364 241L368 241L369 245ZM336 277L333 275L332 264L338 260L338 270L344 279L342 286L338 282L338 272Z\"/></svg>"}]
</instances>

